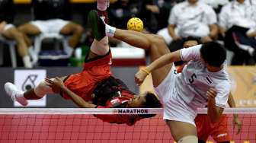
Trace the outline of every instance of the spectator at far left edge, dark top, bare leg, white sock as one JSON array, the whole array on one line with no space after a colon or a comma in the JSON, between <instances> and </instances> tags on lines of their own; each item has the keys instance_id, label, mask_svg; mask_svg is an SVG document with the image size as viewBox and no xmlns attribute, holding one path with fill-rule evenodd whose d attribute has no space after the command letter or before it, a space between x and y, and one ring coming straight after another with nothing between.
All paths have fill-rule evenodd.
<instances>
[{"instance_id":1,"label":"spectator at far left edge, dark top, bare leg, white sock","mask_svg":"<svg viewBox=\"0 0 256 143\"><path fill-rule=\"evenodd\" d=\"M18 54L22 57L25 68L32 68L28 55L28 44L24 35L11 24L14 19L14 3L11 0L0 0L0 37L6 40L14 40L17 43ZM4 40L5 40L4 39Z\"/></svg>"}]
</instances>

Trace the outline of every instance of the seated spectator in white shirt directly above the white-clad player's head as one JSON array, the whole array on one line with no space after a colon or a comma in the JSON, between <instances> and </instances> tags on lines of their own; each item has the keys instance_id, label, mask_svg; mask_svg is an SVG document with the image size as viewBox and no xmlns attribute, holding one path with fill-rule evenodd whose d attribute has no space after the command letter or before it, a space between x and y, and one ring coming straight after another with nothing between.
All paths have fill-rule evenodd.
<instances>
[{"instance_id":1,"label":"seated spectator in white shirt directly above the white-clad player's head","mask_svg":"<svg viewBox=\"0 0 256 143\"><path fill-rule=\"evenodd\" d=\"M187 0L174 5L168 19L168 30L161 30L170 50L181 49L187 37L199 38L202 43L216 40L218 27L216 13L198 0ZM171 36L171 37L170 37Z\"/></svg>"}]
</instances>

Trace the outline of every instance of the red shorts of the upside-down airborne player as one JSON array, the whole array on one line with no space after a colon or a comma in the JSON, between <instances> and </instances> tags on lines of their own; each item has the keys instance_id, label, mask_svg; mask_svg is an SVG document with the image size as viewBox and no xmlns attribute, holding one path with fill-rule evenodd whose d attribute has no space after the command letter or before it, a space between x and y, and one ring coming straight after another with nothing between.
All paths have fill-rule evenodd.
<instances>
[{"instance_id":1,"label":"red shorts of the upside-down airborne player","mask_svg":"<svg viewBox=\"0 0 256 143\"><path fill-rule=\"evenodd\" d=\"M111 52L108 52L105 56L98 56L95 59L85 61L83 71L69 75L64 82L65 86L84 100L91 100L94 88L111 75L111 58ZM70 99L67 94L62 94L62 97Z\"/></svg>"}]
</instances>

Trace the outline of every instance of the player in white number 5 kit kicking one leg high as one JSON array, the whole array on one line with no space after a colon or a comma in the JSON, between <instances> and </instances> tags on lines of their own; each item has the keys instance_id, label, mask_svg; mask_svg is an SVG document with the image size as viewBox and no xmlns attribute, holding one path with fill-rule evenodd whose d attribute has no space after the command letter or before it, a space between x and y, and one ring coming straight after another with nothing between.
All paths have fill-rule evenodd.
<instances>
[{"instance_id":1,"label":"player in white number 5 kit kicking one leg high","mask_svg":"<svg viewBox=\"0 0 256 143\"><path fill-rule=\"evenodd\" d=\"M155 91L164 105L164 119L175 141L197 142L194 125L197 107L207 104L211 121L218 121L230 91L229 78L223 65L226 49L211 42L170 52L165 40L155 34L110 27L100 17L91 18L88 22L97 40L106 35L149 50L152 64L136 74L136 82L142 84L152 72ZM178 75L173 62L181 60L190 62Z\"/></svg>"}]
</instances>

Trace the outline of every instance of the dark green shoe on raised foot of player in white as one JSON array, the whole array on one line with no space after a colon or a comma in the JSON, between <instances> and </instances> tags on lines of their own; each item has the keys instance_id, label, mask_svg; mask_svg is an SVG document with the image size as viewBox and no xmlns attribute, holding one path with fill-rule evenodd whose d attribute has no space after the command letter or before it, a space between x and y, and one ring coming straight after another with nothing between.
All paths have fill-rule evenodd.
<instances>
[{"instance_id":1,"label":"dark green shoe on raised foot of player in white","mask_svg":"<svg viewBox=\"0 0 256 143\"><path fill-rule=\"evenodd\" d=\"M88 14L88 25L91 27L94 38L100 41L106 37L105 24L101 17L98 16L97 11L90 11Z\"/></svg>"}]
</instances>

